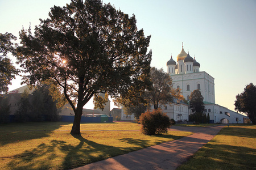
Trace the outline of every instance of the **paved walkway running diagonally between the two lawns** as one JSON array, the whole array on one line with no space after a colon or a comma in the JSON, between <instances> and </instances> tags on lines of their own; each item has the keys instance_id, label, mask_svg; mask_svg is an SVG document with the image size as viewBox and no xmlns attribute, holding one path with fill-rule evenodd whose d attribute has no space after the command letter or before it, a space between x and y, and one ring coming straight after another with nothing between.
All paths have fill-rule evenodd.
<instances>
[{"instance_id":1,"label":"paved walkway running diagonally between the two lawns","mask_svg":"<svg viewBox=\"0 0 256 170\"><path fill-rule=\"evenodd\" d=\"M176 169L186 162L189 156L195 154L205 143L208 143L224 125L205 128L174 126L173 131L192 131L194 134L172 142L115 156L100 162L91 163L82 169Z\"/></svg>"}]
</instances>

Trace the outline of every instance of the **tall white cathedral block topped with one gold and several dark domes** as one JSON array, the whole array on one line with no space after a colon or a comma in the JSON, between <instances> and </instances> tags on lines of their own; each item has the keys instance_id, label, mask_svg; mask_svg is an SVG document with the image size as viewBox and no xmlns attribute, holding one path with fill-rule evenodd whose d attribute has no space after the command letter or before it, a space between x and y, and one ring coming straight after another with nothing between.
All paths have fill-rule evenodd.
<instances>
[{"instance_id":1,"label":"tall white cathedral block topped with one gold and several dark domes","mask_svg":"<svg viewBox=\"0 0 256 170\"><path fill-rule=\"evenodd\" d=\"M175 73L172 71L175 68ZM215 103L214 78L205 71L200 71L200 63L184 51L183 43L181 52L174 59L167 62L167 73L171 76L174 88L179 88L185 99L189 100L191 92L200 90L204 103Z\"/></svg>"}]
</instances>

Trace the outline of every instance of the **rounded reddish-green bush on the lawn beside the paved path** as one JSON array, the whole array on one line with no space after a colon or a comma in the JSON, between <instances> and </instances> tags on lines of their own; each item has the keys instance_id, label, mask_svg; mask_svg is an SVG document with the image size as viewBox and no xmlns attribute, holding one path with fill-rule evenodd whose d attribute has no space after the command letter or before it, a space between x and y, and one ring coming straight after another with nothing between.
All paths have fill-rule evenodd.
<instances>
[{"instance_id":1,"label":"rounded reddish-green bush on the lawn beside the paved path","mask_svg":"<svg viewBox=\"0 0 256 170\"><path fill-rule=\"evenodd\" d=\"M167 133L171 127L170 118L161 109L142 113L139 122L142 125L142 133L148 135Z\"/></svg>"}]
</instances>

